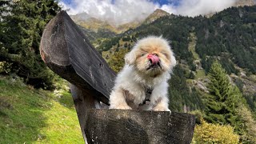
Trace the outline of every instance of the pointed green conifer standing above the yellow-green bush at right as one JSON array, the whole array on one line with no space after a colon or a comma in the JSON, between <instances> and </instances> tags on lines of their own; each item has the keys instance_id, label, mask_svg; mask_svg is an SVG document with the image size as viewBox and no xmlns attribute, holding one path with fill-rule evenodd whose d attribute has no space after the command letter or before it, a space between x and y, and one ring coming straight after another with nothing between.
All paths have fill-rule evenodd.
<instances>
[{"instance_id":1,"label":"pointed green conifer standing above the yellow-green bush at right","mask_svg":"<svg viewBox=\"0 0 256 144\"><path fill-rule=\"evenodd\" d=\"M230 124L238 130L239 118L235 112L239 102L244 102L237 86L230 83L226 70L215 61L210 67L210 94L206 98L206 121Z\"/></svg>"}]
</instances>

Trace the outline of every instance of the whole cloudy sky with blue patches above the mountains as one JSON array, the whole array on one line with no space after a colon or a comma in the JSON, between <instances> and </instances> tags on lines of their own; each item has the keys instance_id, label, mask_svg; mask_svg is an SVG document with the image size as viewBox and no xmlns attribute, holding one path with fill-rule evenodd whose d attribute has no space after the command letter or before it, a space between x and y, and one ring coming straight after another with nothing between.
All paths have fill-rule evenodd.
<instances>
[{"instance_id":1,"label":"whole cloudy sky with blue patches above the mountains","mask_svg":"<svg viewBox=\"0 0 256 144\"><path fill-rule=\"evenodd\" d=\"M86 12L91 17L115 25L142 21L156 9L190 17L209 14L233 6L237 0L61 0L70 15Z\"/></svg>"}]
</instances>

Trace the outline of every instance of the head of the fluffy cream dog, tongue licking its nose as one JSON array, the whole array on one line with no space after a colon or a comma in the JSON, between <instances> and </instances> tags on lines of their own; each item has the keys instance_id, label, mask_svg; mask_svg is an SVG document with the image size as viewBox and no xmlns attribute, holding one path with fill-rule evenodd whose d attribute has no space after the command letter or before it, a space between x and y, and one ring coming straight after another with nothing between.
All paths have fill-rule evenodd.
<instances>
[{"instance_id":1,"label":"head of the fluffy cream dog, tongue licking its nose","mask_svg":"<svg viewBox=\"0 0 256 144\"><path fill-rule=\"evenodd\" d=\"M176 65L168 42L159 37L148 37L138 41L126 54L126 64L135 66L143 74L158 75L171 71Z\"/></svg>"}]
</instances>

